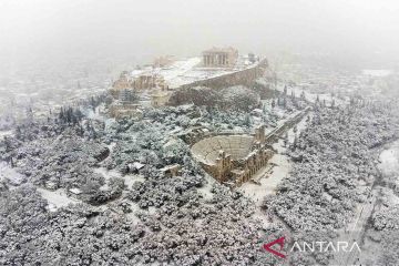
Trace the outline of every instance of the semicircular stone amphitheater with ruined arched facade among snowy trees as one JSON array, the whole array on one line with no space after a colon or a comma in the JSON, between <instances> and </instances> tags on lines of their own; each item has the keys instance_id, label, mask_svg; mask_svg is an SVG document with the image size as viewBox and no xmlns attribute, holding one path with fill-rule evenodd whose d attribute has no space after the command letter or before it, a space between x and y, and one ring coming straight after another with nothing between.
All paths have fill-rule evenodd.
<instances>
[{"instance_id":1,"label":"semicircular stone amphitheater with ruined arched facade among snowy trees","mask_svg":"<svg viewBox=\"0 0 399 266\"><path fill-rule=\"evenodd\" d=\"M264 167L273 156L265 144L265 126L254 135L216 135L192 146L192 154L218 182L239 186Z\"/></svg>"}]
</instances>

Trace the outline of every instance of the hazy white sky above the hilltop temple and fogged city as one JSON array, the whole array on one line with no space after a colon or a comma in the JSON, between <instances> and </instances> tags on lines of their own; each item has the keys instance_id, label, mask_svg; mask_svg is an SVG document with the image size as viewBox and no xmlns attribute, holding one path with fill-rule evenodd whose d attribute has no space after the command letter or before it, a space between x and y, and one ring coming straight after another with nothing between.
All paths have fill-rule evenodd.
<instances>
[{"instance_id":1,"label":"hazy white sky above the hilltop temple and fogged city","mask_svg":"<svg viewBox=\"0 0 399 266\"><path fill-rule=\"evenodd\" d=\"M0 0L0 55L399 52L397 0Z\"/></svg>"}]
</instances>

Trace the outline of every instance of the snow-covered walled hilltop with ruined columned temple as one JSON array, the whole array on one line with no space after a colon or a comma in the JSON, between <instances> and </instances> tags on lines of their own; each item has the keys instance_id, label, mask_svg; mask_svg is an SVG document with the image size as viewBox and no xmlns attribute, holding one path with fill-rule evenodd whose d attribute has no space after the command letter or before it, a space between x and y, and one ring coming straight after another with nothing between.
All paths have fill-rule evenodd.
<instances>
[{"instance_id":1,"label":"snow-covered walled hilltop with ruined columned temple","mask_svg":"<svg viewBox=\"0 0 399 266\"><path fill-rule=\"evenodd\" d=\"M267 72L266 59L253 53L241 55L233 48L212 48L202 57L188 59L160 57L151 65L121 73L111 94L122 101L114 104L112 113L116 117L135 113L137 105L126 101L129 93L149 92L152 105L162 106L173 104L173 93L185 88L249 85Z\"/></svg>"}]
</instances>

